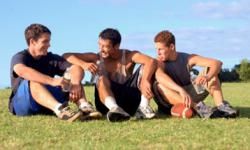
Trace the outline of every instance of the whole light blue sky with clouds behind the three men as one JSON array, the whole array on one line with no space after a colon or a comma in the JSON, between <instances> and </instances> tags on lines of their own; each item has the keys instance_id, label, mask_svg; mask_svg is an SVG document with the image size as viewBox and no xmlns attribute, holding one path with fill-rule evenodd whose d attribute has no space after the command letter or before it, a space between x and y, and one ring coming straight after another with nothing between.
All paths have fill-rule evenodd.
<instances>
[{"instance_id":1,"label":"whole light blue sky with clouds behind the three men","mask_svg":"<svg viewBox=\"0 0 250 150\"><path fill-rule=\"evenodd\" d=\"M60 55L98 52L99 33L111 27L122 35L121 48L155 57L154 36L169 30L177 51L231 69L250 59L249 6L249 0L1 0L0 88L10 86L11 57L27 48L24 30L32 23L52 31L49 51Z\"/></svg>"}]
</instances>

